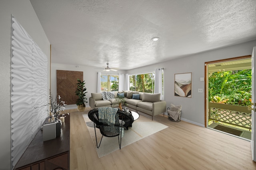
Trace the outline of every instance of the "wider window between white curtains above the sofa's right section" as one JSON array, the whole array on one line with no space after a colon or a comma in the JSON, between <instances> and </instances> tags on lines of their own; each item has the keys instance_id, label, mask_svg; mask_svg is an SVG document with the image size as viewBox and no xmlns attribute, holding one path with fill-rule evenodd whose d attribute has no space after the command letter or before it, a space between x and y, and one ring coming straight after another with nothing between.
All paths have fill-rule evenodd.
<instances>
[{"instance_id":1,"label":"wider window between white curtains above the sofa's right section","mask_svg":"<svg viewBox=\"0 0 256 170\"><path fill-rule=\"evenodd\" d=\"M130 76L130 90L154 93L154 72Z\"/></svg>"}]
</instances>

